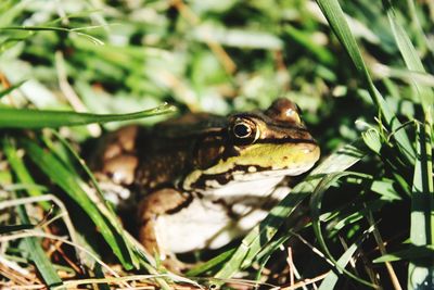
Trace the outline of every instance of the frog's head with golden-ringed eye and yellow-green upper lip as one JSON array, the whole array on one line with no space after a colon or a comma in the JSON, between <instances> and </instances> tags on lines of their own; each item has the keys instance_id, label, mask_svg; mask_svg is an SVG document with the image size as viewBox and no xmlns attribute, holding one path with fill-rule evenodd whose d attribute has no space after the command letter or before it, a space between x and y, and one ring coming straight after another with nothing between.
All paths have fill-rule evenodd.
<instances>
[{"instance_id":1,"label":"frog's head with golden-ringed eye and yellow-green upper lip","mask_svg":"<svg viewBox=\"0 0 434 290\"><path fill-rule=\"evenodd\" d=\"M310 169L320 149L288 99L264 112L233 114L219 134L209 134L195 150L195 169L184 187L221 187L232 180L296 176Z\"/></svg>"}]
</instances>

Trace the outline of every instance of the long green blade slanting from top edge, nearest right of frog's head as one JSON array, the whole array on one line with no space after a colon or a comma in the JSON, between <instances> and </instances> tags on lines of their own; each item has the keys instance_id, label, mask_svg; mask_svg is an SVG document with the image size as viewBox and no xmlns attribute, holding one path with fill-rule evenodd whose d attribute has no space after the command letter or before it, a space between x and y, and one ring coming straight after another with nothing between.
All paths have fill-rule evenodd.
<instances>
[{"instance_id":1,"label":"long green blade slanting from top edge, nearest right of frog's head","mask_svg":"<svg viewBox=\"0 0 434 290\"><path fill-rule=\"evenodd\" d=\"M395 131L401 126L400 122L394 115L394 113L387 106L387 103L375 88L372 78L368 72L363 59L361 58L360 50L357 46L356 39L349 30L348 24L345 20L344 12L337 0L316 0L320 7L322 13L327 17L331 28L344 46L345 50L349 54L360 76L368 85L368 90L373 102L380 109L388 128L391 131ZM409 141L409 138L405 130L396 130L395 139L399 143L399 151L406 157L406 160L413 164L414 162L414 150Z\"/></svg>"}]
</instances>

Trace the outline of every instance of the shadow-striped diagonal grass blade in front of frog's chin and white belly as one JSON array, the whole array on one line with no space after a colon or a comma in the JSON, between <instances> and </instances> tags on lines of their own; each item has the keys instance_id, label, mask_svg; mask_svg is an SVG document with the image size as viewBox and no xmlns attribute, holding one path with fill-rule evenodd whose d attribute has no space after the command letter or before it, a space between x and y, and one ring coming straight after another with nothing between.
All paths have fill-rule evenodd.
<instances>
[{"instance_id":1,"label":"shadow-striped diagonal grass blade in front of frog's chin and white belly","mask_svg":"<svg viewBox=\"0 0 434 290\"><path fill-rule=\"evenodd\" d=\"M278 228L295 207L307 197L319 184L324 174L345 171L358 162L363 153L358 149L360 140L355 144L347 144L341 150L330 155L310 175L295 188L293 188L277 206L275 206L267 217L242 240L232 257L216 274L216 278L228 279L241 268L250 266L264 245L276 235Z\"/></svg>"}]
</instances>

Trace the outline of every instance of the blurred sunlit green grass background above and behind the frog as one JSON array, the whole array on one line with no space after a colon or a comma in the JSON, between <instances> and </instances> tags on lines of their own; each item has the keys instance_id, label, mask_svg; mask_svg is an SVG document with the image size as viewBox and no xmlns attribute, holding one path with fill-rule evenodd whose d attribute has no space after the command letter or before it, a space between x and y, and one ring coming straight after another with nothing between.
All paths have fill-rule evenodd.
<instances>
[{"instance_id":1,"label":"blurred sunlit green grass background above and behind the frog","mask_svg":"<svg viewBox=\"0 0 434 290\"><path fill-rule=\"evenodd\" d=\"M399 65L381 3L343 4L374 74ZM356 118L375 114L314 1L3 1L0 13L10 28L0 71L12 85L26 80L14 92L20 106L79 110L78 99L119 113L167 101L227 114L288 97L326 153L357 137Z\"/></svg>"}]
</instances>

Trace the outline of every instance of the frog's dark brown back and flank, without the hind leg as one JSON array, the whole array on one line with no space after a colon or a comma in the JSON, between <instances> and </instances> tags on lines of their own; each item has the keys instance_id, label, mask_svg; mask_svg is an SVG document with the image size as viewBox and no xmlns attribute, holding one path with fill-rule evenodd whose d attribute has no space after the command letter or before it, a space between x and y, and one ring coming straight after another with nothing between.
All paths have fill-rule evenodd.
<instances>
[{"instance_id":1,"label":"frog's dark brown back and flank, without the hind leg","mask_svg":"<svg viewBox=\"0 0 434 290\"><path fill-rule=\"evenodd\" d=\"M176 186L195 166L197 143L209 134L220 135L226 123L225 117L190 113L156 124L151 129L140 129L137 186L145 190L167 184Z\"/></svg>"}]
</instances>

